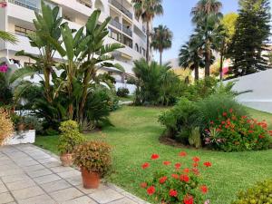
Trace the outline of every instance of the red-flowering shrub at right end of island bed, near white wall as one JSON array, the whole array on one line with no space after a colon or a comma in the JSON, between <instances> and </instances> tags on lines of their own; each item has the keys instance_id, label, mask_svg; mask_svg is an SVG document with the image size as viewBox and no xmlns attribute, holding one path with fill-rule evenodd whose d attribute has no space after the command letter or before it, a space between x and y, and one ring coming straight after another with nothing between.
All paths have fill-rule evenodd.
<instances>
[{"instance_id":1,"label":"red-flowering shrub at right end of island bed, near white wall","mask_svg":"<svg viewBox=\"0 0 272 204\"><path fill-rule=\"evenodd\" d=\"M219 112L218 120L209 121L209 128L204 131L205 143L222 151L266 150L271 145L271 136L266 121L238 116L233 109Z\"/></svg>"}]
</instances>

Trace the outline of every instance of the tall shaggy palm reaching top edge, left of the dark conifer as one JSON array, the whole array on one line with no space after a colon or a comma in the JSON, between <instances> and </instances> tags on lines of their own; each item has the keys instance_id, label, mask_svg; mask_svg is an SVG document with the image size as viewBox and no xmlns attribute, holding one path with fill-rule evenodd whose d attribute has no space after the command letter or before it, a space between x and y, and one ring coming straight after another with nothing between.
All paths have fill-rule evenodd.
<instances>
[{"instance_id":1,"label":"tall shaggy palm reaching top edge, left of the dark conifer","mask_svg":"<svg viewBox=\"0 0 272 204\"><path fill-rule=\"evenodd\" d=\"M195 30L202 39L205 57L205 76L209 77L209 67L212 62L212 50L219 46L219 20L223 16L219 11L222 4L217 0L199 0L198 4L192 8L193 23L197 25Z\"/></svg>"}]
</instances>

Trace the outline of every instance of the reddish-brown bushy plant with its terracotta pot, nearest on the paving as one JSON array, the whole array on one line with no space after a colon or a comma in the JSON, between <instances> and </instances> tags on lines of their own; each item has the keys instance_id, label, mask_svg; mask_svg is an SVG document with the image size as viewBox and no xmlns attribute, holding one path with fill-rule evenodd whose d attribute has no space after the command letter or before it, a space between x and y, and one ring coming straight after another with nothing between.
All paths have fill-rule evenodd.
<instances>
[{"instance_id":1,"label":"reddish-brown bushy plant with its terracotta pot, nearest on the paving","mask_svg":"<svg viewBox=\"0 0 272 204\"><path fill-rule=\"evenodd\" d=\"M97 189L101 178L112 166L111 147L101 141L89 141L74 151L74 163L81 168L83 187Z\"/></svg>"}]
</instances>

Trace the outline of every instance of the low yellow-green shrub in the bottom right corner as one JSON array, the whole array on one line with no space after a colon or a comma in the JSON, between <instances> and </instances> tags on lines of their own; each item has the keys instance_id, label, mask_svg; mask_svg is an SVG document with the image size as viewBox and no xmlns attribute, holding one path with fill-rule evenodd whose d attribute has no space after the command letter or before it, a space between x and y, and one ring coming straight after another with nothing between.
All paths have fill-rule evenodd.
<instances>
[{"instance_id":1,"label":"low yellow-green shrub in the bottom right corner","mask_svg":"<svg viewBox=\"0 0 272 204\"><path fill-rule=\"evenodd\" d=\"M238 193L232 204L270 204L272 203L272 179L258 182L254 187Z\"/></svg>"}]
</instances>

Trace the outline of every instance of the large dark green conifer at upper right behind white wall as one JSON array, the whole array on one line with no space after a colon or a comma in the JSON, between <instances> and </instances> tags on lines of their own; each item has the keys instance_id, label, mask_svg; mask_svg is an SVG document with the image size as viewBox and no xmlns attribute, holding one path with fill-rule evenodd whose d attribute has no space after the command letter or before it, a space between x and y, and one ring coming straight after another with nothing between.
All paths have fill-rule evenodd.
<instances>
[{"instance_id":1,"label":"large dark green conifer at upper right behind white wall","mask_svg":"<svg viewBox=\"0 0 272 204\"><path fill-rule=\"evenodd\" d=\"M228 48L232 77L269 68L264 52L270 36L269 0L240 0L236 32Z\"/></svg>"}]
</instances>

